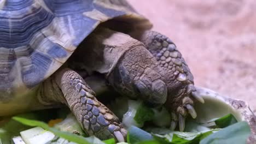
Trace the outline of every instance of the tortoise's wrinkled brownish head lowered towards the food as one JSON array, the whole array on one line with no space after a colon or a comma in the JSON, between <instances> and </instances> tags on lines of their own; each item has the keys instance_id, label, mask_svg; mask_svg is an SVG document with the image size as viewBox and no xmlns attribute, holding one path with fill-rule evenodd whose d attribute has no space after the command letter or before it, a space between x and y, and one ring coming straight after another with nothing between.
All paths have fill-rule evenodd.
<instances>
[{"instance_id":1,"label":"tortoise's wrinkled brownish head lowered towards the food","mask_svg":"<svg viewBox=\"0 0 256 144\"><path fill-rule=\"evenodd\" d=\"M143 45L127 51L108 76L110 84L130 98L142 98L150 106L164 104L167 87L156 60Z\"/></svg>"}]
</instances>

